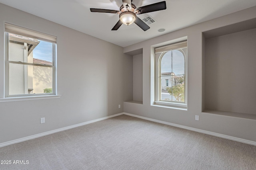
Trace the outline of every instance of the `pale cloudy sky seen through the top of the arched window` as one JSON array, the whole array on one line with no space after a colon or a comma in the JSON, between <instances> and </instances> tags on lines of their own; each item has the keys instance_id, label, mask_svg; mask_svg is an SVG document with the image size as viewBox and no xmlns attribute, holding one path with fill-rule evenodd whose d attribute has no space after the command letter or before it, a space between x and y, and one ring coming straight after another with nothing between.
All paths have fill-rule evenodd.
<instances>
[{"instance_id":1,"label":"pale cloudy sky seen through the top of the arched window","mask_svg":"<svg viewBox=\"0 0 256 170\"><path fill-rule=\"evenodd\" d=\"M172 63L173 57L173 63ZM184 57L178 50L167 52L161 61L161 72L174 72L175 75L184 74Z\"/></svg>"}]
</instances>

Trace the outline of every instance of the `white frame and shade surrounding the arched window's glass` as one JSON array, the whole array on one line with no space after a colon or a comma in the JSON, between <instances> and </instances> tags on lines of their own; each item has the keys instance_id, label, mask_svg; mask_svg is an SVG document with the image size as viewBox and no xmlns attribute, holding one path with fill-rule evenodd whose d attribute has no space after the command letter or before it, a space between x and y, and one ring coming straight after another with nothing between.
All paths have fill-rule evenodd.
<instances>
[{"instance_id":1,"label":"white frame and shade surrounding the arched window's glass","mask_svg":"<svg viewBox=\"0 0 256 170\"><path fill-rule=\"evenodd\" d=\"M183 102L168 102L163 101L161 99L161 59L164 56L165 53L172 50L179 50L182 48L187 48L187 41L180 41L177 43L172 43L170 45L165 45L161 47L155 48L155 100L154 104L156 106L164 106L164 107L171 107L176 109L187 109L187 53L184 54L184 81L185 81L185 94L184 94L184 103Z\"/></svg>"}]
</instances>

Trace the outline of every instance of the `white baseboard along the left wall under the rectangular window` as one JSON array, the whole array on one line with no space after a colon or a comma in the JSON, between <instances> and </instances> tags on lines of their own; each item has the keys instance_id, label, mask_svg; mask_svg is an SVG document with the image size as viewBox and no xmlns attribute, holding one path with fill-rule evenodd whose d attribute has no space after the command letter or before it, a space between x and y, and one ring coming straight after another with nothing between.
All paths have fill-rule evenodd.
<instances>
[{"instance_id":1,"label":"white baseboard along the left wall under the rectangular window","mask_svg":"<svg viewBox=\"0 0 256 170\"><path fill-rule=\"evenodd\" d=\"M60 132L60 131L65 131L65 130L72 129L72 128L75 128L75 127L87 125L87 124L94 123L94 122L97 122L97 121L102 121L102 120L109 119L111 117L119 116L119 115L122 115L122 114L124 114L124 113L118 113L118 114L115 114L115 115L111 115L111 116L107 116L107 117L102 117L102 118L91 120L91 121L86 121L84 123L79 123L79 124L71 125L71 126L68 126L68 127L62 127L60 129L55 129L55 130L52 130L52 131L48 131L48 132L44 132L44 133L39 133L39 134L36 134L36 135L31 135L31 136L28 136L28 137L23 137L23 138L20 138L20 139L15 139L13 141L8 141L8 142L0 143L0 148L8 146L8 145L15 144L15 143L20 143L20 142L23 142L23 141L28 141L30 139L35 139L35 138L38 138L38 137L50 135L52 133L56 133L56 132Z\"/></svg>"}]
</instances>

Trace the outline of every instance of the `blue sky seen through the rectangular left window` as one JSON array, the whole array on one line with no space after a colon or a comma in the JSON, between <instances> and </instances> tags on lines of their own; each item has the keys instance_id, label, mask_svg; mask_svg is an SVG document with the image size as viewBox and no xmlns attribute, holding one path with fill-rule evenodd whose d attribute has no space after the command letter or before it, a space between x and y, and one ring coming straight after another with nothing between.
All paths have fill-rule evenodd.
<instances>
[{"instance_id":1,"label":"blue sky seen through the rectangular left window","mask_svg":"<svg viewBox=\"0 0 256 170\"><path fill-rule=\"evenodd\" d=\"M33 50L33 58L52 62L52 43L38 40L40 43Z\"/></svg>"}]
</instances>

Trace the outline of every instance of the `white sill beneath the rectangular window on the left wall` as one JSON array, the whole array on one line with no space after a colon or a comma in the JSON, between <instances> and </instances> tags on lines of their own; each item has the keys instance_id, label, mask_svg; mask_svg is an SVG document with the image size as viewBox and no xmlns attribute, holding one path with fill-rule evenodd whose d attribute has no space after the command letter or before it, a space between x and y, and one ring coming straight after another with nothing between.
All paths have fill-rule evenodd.
<instances>
[{"instance_id":1,"label":"white sill beneath the rectangular window on the left wall","mask_svg":"<svg viewBox=\"0 0 256 170\"><path fill-rule=\"evenodd\" d=\"M0 102L16 102L16 101L24 101L24 100L54 99L54 98L60 98L60 96L61 95L0 98Z\"/></svg>"}]
</instances>

